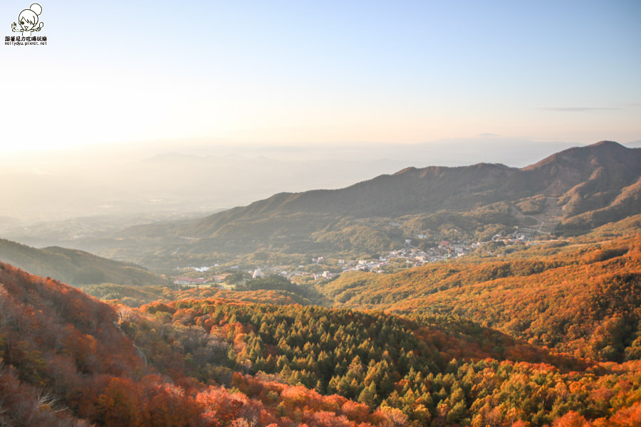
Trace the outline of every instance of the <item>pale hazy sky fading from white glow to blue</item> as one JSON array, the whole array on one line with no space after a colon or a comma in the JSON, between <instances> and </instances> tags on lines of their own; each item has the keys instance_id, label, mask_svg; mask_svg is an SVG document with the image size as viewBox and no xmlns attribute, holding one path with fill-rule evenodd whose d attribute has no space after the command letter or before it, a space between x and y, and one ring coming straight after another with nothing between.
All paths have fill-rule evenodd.
<instances>
[{"instance_id":1,"label":"pale hazy sky fading from white glow to blue","mask_svg":"<svg viewBox=\"0 0 641 427\"><path fill-rule=\"evenodd\" d=\"M0 46L0 152L641 139L638 0L40 4L47 45Z\"/></svg>"}]
</instances>

